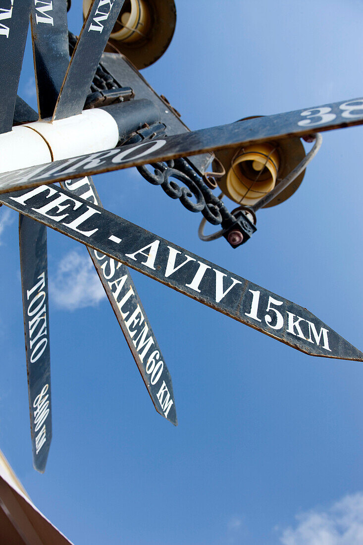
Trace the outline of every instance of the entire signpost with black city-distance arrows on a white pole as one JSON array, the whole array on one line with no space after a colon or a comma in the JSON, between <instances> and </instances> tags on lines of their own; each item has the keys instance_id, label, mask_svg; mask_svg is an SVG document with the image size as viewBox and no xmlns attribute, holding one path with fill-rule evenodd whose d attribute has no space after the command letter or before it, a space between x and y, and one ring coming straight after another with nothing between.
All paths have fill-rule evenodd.
<instances>
[{"instance_id":1,"label":"entire signpost with black city-distance arrows on a white pole","mask_svg":"<svg viewBox=\"0 0 363 545\"><path fill-rule=\"evenodd\" d=\"M161 184L187 209L202 211L213 225L221 223L227 240L229 229L241 241L256 230L254 214L250 209L248 216L240 207L239 216L234 216L211 193L213 179L205 171L213 153L289 137L309 139L316 132L363 124L363 99L188 132L178 112L154 92L128 59L102 57L123 5L124 0L92 2L78 39L70 38L70 61L65 0L11 0L0 9L1 66L6 75L1 80L0 146L9 152L9 158L7 153L0 158L0 202L21 214L28 391L33 461L39 471L45 469L52 436L46 226L87 246L155 408L174 425L177 415L170 373L128 267L301 352L363 361L358 349L306 308L104 210L89 178L131 166L157 166L154 174L143 174L150 183ZM155 18L156 12L149 11L140 15L147 21L149 14L144 32ZM39 123L37 114L16 95L30 17ZM120 26L123 20L121 16ZM139 22L131 34L140 34ZM160 21L156 23L158 27ZM142 33L144 43L148 39ZM97 78L102 92L95 92ZM122 109L119 102L124 101L128 104ZM93 111L82 113L83 108ZM25 128L31 121L32 126ZM22 127L11 130L12 124ZM29 146L24 147L23 136ZM78 142L83 147L77 147ZM83 152L87 153L71 156ZM167 161L173 162L161 165ZM14 169L19 165L25 168ZM261 169L258 172L256 180Z\"/></svg>"}]
</instances>

